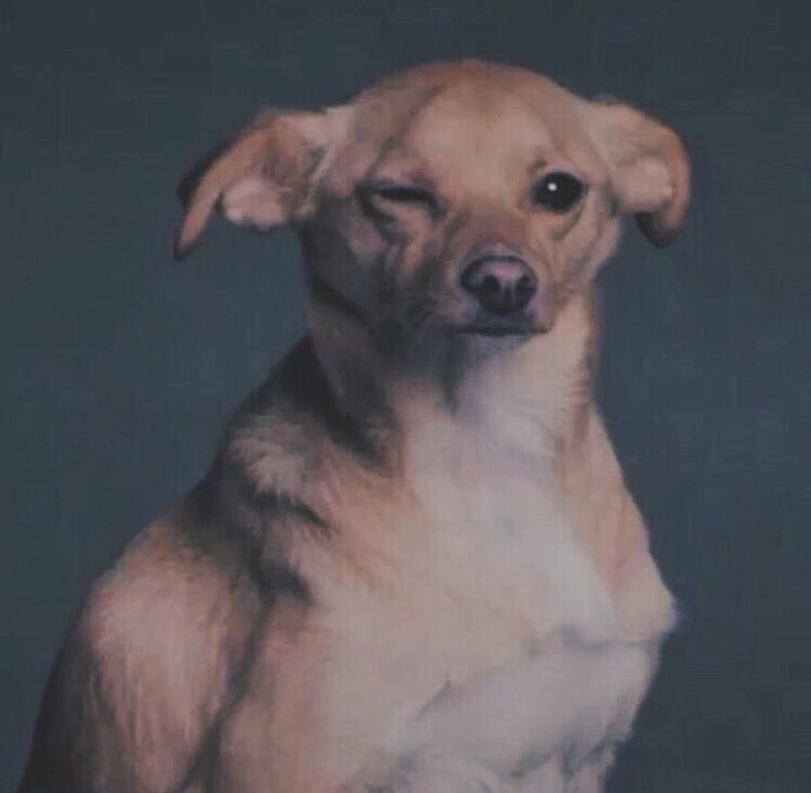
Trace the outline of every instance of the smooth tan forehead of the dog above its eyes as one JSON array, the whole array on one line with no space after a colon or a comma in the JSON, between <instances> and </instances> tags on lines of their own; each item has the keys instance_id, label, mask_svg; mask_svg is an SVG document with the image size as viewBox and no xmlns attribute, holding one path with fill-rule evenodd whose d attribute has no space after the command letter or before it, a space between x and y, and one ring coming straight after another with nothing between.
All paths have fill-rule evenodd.
<instances>
[{"instance_id":1,"label":"smooth tan forehead of the dog above its eyes","mask_svg":"<svg viewBox=\"0 0 811 793\"><path fill-rule=\"evenodd\" d=\"M385 157L429 163L569 157L588 170L593 152L581 100L552 80L480 62L430 65L381 80L355 100L361 145Z\"/></svg>"}]
</instances>

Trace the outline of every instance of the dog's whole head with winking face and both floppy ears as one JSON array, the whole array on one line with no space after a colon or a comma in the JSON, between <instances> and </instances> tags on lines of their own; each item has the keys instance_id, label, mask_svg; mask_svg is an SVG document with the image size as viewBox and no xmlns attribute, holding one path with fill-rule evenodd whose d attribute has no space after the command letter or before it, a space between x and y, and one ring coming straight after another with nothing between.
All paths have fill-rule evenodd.
<instances>
[{"instance_id":1,"label":"dog's whole head with winking face and both floppy ears","mask_svg":"<svg viewBox=\"0 0 811 793\"><path fill-rule=\"evenodd\" d=\"M553 327L613 251L621 215L667 245L688 193L666 127L464 62L322 113L261 116L195 185L179 250L215 206L259 229L294 221L314 303L376 338L515 341Z\"/></svg>"}]
</instances>

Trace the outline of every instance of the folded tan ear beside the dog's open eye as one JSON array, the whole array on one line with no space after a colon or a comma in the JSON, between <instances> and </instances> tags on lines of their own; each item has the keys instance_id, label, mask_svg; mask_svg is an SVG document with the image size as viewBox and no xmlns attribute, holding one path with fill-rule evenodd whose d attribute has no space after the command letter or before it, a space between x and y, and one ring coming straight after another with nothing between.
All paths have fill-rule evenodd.
<instances>
[{"instance_id":1,"label":"folded tan ear beside the dog's open eye","mask_svg":"<svg viewBox=\"0 0 811 793\"><path fill-rule=\"evenodd\" d=\"M608 165L619 211L657 247L673 241L690 200L690 160L679 137L628 105L588 102L587 127Z\"/></svg>"}]
</instances>

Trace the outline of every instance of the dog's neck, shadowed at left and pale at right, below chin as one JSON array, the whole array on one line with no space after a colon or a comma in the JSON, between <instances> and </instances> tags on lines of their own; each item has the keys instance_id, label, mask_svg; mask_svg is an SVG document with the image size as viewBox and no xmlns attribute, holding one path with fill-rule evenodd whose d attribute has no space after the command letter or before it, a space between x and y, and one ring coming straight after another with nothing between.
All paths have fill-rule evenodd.
<instances>
[{"instance_id":1,"label":"dog's neck, shadowed at left and pale at right, below chin","mask_svg":"<svg viewBox=\"0 0 811 793\"><path fill-rule=\"evenodd\" d=\"M443 439L453 446L469 434L486 438L499 457L553 459L570 445L591 397L592 323L584 295L549 334L512 346L474 340L422 368L392 365L365 328L329 312L311 315L311 336L342 412L383 457L402 460L420 438L441 449Z\"/></svg>"}]
</instances>

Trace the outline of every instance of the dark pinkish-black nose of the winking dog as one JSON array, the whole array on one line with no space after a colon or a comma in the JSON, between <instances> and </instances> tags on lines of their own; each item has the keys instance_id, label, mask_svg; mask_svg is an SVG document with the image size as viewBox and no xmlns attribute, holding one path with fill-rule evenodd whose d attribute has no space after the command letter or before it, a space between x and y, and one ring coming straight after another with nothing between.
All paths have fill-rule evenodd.
<instances>
[{"instance_id":1,"label":"dark pinkish-black nose of the winking dog","mask_svg":"<svg viewBox=\"0 0 811 793\"><path fill-rule=\"evenodd\" d=\"M516 257L484 257L465 268L462 286L490 314L507 316L527 307L538 291L538 279Z\"/></svg>"}]
</instances>

